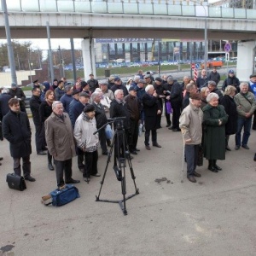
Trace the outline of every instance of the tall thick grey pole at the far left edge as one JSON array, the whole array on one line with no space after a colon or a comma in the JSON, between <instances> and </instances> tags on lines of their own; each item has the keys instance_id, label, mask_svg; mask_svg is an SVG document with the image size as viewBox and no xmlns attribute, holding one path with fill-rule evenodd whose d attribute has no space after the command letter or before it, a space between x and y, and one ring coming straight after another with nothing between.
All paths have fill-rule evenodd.
<instances>
[{"instance_id":1,"label":"tall thick grey pole at the far left edge","mask_svg":"<svg viewBox=\"0 0 256 256\"><path fill-rule=\"evenodd\" d=\"M17 84L17 76L16 76L16 70L15 70L15 55L14 55L14 49L13 49L10 29L9 29L9 17L7 13L6 0L2 0L2 9L3 9L4 23L5 23L5 33L6 33L6 39L7 39L7 49L8 49L8 55L9 55L9 67L11 70L11 79L12 79L12 83Z\"/></svg>"}]
</instances>

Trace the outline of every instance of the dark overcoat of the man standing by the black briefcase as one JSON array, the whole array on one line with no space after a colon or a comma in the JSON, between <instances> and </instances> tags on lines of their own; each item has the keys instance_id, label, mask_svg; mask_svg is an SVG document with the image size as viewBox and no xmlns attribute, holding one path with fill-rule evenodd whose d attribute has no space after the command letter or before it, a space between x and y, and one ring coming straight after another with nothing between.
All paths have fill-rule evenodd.
<instances>
[{"instance_id":1,"label":"dark overcoat of the man standing by the black briefcase","mask_svg":"<svg viewBox=\"0 0 256 256\"><path fill-rule=\"evenodd\" d=\"M31 128L27 114L10 110L3 117L3 137L9 141L9 150L13 158L30 155L32 153Z\"/></svg>"}]
</instances>

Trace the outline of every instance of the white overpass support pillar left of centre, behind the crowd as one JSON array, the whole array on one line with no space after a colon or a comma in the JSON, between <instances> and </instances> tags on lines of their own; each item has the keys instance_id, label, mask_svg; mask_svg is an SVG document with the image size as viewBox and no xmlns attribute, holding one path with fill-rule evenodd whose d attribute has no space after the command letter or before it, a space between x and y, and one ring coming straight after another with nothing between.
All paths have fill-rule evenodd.
<instances>
[{"instance_id":1,"label":"white overpass support pillar left of centre, behind the crowd","mask_svg":"<svg viewBox=\"0 0 256 256\"><path fill-rule=\"evenodd\" d=\"M93 38L85 38L84 40L82 40L81 45L84 61L84 80L87 81L88 79L90 79L90 73L93 73L96 78L96 52L94 47L94 40Z\"/></svg>"}]
</instances>

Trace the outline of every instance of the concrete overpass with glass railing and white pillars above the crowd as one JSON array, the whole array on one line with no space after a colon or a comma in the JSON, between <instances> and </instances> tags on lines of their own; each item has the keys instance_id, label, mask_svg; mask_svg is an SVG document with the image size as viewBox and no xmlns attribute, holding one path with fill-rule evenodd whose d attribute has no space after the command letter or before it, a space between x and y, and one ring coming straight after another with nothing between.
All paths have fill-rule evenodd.
<instances>
[{"instance_id":1,"label":"concrete overpass with glass railing and white pillars above the crowd","mask_svg":"<svg viewBox=\"0 0 256 256\"><path fill-rule=\"evenodd\" d=\"M86 77L95 66L91 58L94 54L90 52L92 38L148 38L149 35L203 39L206 20L208 39L243 41L238 60L241 54L246 56L244 62L248 64L242 64L241 74L248 68L247 73L252 73L256 9L174 2L178 1L7 0L7 5L12 38L47 38L47 21L51 38L84 38L82 48L87 64L84 67L90 67L84 71ZM0 38L5 38L4 19L0 20Z\"/></svg>"}]
</instances>

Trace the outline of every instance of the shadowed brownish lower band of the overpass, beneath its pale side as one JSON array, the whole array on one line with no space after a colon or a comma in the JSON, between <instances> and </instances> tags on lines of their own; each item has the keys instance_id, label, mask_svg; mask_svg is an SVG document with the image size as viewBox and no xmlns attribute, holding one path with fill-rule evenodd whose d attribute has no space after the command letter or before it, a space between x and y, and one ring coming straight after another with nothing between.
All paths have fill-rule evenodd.
<instances>
[{"instance_id":1,"label":"shadowed brownish lower band of the overpass, beneath its pale side","mask_svg":"<svg viewBox=\"0 0 256 256\"><path fill-rule=\"evenodd\" d=\"M11 27L12 38L47 38L46 27ZM51 38L178 38L204 39L204 29L148 29L148 28L90 28L90 27L53 27L50 26ZM208 39L256 40L255 32L230 32L207 30ZM0 38L6 38L5 29L0 28Z\"/></svg>"}]
</instances>

